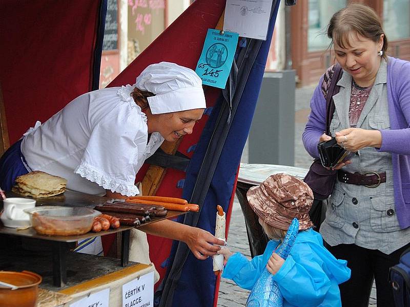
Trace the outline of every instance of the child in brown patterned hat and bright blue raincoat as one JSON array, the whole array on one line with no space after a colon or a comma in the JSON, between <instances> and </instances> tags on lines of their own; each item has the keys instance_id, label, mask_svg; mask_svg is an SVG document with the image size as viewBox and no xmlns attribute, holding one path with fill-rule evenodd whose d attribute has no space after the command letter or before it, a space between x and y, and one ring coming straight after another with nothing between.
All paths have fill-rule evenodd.
<instances>
[{"instance_id":1,"label":"child in brown patterned hat and bright blue raincoat","mask_svg":"<svg viewBox=\"0 0 410 307\"><path fill-rule=\"evenodd\" d=\"M274 174L252 187L247 198L271 240L263 255L252 260L228 248L220 250L226 261L222 277L251 290L267 267L278 283L283 306L341 306L338 284L348 280L351 272L347 261L338 260L327 251L321 235L312 229L308 213L313 193L309 186L288 174ZM284 260L275 250L294 217L299 220L299 233Z\"/></svg>"}]
</instances>

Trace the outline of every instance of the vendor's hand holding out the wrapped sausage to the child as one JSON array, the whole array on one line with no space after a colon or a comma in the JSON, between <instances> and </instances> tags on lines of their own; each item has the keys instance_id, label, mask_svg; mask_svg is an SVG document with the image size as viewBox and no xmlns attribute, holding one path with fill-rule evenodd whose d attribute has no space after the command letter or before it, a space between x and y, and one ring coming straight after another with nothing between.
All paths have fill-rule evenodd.
<instances>
[{"instance_id":1,"label":"vendor's hand holding out the wrapped sausage to the child","mask_svg":"<svg viewBox=\"0 0 410 307\"><path fill-rule=\"evenodd\" d=\"M221 248L219 245L225 245L223 240L214 237L210 232L196 228L190 227L188 231L187 238L184 242L188 245L191 252L199 260L207 259L209 256L213 256ZM212 245L212 244L215 245Z\"/></svg>"}]
</instances>

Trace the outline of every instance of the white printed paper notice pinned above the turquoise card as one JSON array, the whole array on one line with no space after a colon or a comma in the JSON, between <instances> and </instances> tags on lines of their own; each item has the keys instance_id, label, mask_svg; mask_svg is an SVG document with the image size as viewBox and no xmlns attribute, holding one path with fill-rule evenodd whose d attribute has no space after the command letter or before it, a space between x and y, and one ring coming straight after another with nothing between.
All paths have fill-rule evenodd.
<instances>
[{"instance_id":1,"label":"white printed paper notice pinned above the turquoise card","mask_svg":"<svg viewBox=\"0 0 410 307\"><path fill-rule=\"evenodd\" d=\"M227 0L223 31L265 40L273 0Z\"/></svg>"}]
</instances>

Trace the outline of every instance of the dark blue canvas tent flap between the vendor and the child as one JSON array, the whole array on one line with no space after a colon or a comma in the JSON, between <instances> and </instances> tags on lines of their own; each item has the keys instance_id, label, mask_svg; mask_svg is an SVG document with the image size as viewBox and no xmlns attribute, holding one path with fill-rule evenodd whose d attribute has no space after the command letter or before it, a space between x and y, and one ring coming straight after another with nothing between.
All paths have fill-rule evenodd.
<instances>
[{"instance_id":1,"label":"dark blue canvas tent flap between the vendor and the child","mask_svg":"<svg viewBox=\"0 0 410 307\"><path fill-rule=\"evenodd\" d=\"M200 205L200 212L179 222L215 233L215 206L228 211L240 157L249 134L272 40L280 0L273 1L265 41L239 43L227 87L203 129L191 159L182 198ZM214 304L216 277L212 258L199 261L184 243L174 242L167 276L156 293L160 307Z\"/></svg>"}]
</instances>

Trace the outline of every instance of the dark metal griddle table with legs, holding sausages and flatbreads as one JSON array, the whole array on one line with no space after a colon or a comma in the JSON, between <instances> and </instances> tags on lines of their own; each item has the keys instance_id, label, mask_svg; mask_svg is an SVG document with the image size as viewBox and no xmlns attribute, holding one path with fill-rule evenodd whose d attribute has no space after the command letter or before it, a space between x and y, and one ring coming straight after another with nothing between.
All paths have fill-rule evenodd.
<instances>
[{"instance_id":1,"label":"dark metal griddle table with legs, holding sausages and flatbreads","mask_svg":"<svg viewBox=\"0 0 410 307\"><path fill-rule=\"evenodd\" d=\"M7 197L19 197L19 195L12 192L6 194ZM21 196L20 196L21 197ZM70 206L70 207L87 207L94 208L97 205L104 204L107 201L113 199L106 197L99 197L79 192L67 190L63 195L52 196L50 198L41 198L36 200L36 206L48 205L48 206ZM1 202L0 209L3 208L3 202ZM151 223L156 223L166 218L175 217L187 212L181 211L168 211L167 216L153 217L150 222L146 222L135 228L139 228ZM88 232L81 235L71 236L49 236L38 234L33 228L24 230L17 230L16 228L8 228L0 223L0 234L26 237L30 239L42 240L42 242L48 242L47 245L52 249L52 266L53 266L53 283L56 287L63 287L67 283L67 254L70 249L75 247L75 243L79 240L92 238L96 236L103 236L121 232L121 253L120 253L120 265L126 267L129 259L130 249L130 230L133 226L120 226L118 229L109 229L101 232Z\"/></svg>"}]
</instances>

